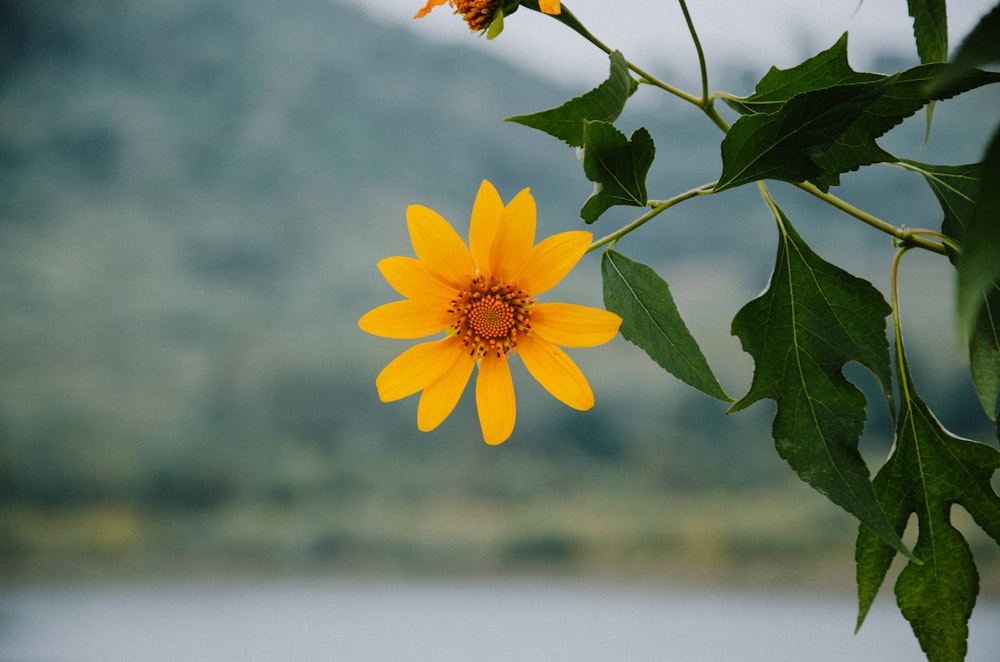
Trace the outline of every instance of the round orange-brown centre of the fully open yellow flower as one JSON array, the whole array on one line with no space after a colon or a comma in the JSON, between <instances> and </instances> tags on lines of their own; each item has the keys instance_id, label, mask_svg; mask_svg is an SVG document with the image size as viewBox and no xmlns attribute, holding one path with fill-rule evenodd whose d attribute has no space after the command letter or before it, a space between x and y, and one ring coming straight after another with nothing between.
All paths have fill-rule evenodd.
<instances>
[{"instance_id":1,"label":"round orange-brown centre of the fully open yellow flower","mask_svg":"<svg viewBox=\"0 0 1000 662\"><path fill-rule=\"evenodd\" d=\"M512 283L487 283L477 276L452 300L448 311L455 315L452 328L473 356L495 354L497 358L517 347L517 335L531 329L533 299Z\"/></svg>"}]
</instances>

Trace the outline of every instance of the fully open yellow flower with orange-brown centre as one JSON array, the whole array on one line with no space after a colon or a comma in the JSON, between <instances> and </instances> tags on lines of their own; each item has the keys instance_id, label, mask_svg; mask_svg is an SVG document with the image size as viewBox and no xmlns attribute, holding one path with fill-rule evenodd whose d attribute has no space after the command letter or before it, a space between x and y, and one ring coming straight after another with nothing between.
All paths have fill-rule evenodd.
<instances>
[{"instance_id":1,"label":"fully open yellow flower with orange-brown centre","mask_svg":"<svg viewBox=\"0 0 1000 662\"><path fill-rule=\"evenodd\" d=\"M389 257L379 271L405 297L365 314L358 325L386 338L440 340L407 349L375 380L390 402L422 391L417 427L430 431L454 410L478 365L476 406L488 444L507 440L516 407L508 359L517 354L553 396L587 410L594 394L559 347L593 347L611 340L621 318L568 303L538 303L590 245L589 232L552 235L535 244L535 200L528 189L506 206L483 181L472 208L468 246L431 209L410 205L406 221L416 258Z\"/></svg>"}]
</instances>

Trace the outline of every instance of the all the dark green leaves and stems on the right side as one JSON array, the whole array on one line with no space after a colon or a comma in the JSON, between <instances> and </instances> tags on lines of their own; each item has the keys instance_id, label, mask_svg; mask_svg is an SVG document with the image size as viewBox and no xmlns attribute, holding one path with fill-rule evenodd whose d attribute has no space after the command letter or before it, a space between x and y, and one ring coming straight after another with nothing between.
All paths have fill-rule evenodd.
<instances>
[{"instance_id":1,"label":"all the dark green leaves and stems on the right side","mask_svg":"<svg viewBox=\"0 0 1000 662\"><path fill-rule=\"evenodd\" d=\"M653 208L592 248L615 245L660 212L701 194L756 184L777 222L778 250L767 289L732 322L732 333L754 359L754 371L749 391L730 411L763 398L774 400L771 431L778 454L799 478L860 522L855 559L859 625L891 561L901 553L908 564L896 582L897 601L921 647L929 660L962 660L979 577L969 544L952 523L951 508L965 508L1000 543L1000 497L991 484L1000 453L946 432L917 395L899 331L896 276L899 258L914 248L947 257L957 266L957 322L969 341L978 398L995 418L1000 397L1000 130L983 141L979 162L972 159L980 155L972 155L964 165L900 159L878 140L924 108L929 130L934 104L1000 82L1000 73L975 68L1000 60L1000 6L980 21L952 64L945 63L944 0L909 0L920 64L889 75L854 71L845 34L799 65L772 67L753 94L740 98L725 92L709 95L700 42L686 3L680 4L699 53L701 96L625 64L640 84L696 106L723 131L722 171L716 182L662 202L647 200L652 138L639 129L629 141L611 128L613 120L602 117L600 107L571 102L568 117L579 125L574 141L551 124L553 117L562 117L553 114L559 109L527 116L530 121L522 123L585 148L584 173L597 185L583 209L588 223L616 205ZM572 15L559 20L611 53ZM612 54L612 75L621 79L623 74L615 72L619 57ZM617 84L622 85L620 80ZM627 97L619 99L624 103ZM715 108L720 99L738 114L731 126ZM620 111L615 105L614 114ZM923 177L943 211L940 231L910 229L910 218L905 224L889 223L830 193L845 173L882 163ZM890 235L898 248L890 283L893 304L868 281L820 258L775 204L766 180L794 184ZM667 283L649 267L612 250L602 258L602 275L605 305L622 317L622 335L674 376L725 400ZM889 315L896 330L895 379L885 325ZM892 454L874 479L859 451L868 402L844 375L852 362L875 376L895 422ZM911 514L918 520L912 551L902 542Z\"/></svg>"}]
</instances>

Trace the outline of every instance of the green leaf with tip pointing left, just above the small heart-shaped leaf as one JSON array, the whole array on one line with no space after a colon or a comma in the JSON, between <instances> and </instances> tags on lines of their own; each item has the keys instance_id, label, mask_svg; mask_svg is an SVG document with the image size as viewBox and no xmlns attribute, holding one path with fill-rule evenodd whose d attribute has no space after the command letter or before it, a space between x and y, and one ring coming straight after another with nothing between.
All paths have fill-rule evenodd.
<instances>
[{"instance_id":1,"label":"green leaf with tip pointing left, just above the small heart-shaped leaf","mask_svg":"<svg viewBox=\"0 0 1000 662\"><path fill-rule=\"evenodd\" d=\"M608 79L590 92L557 108L533 115L508 117L505 121L544 131L570 147L583 147L586 123L616 120L637 85L628 73L624 56L615 51L610 57L611 73Z\"/></svg>"}]
</instances>

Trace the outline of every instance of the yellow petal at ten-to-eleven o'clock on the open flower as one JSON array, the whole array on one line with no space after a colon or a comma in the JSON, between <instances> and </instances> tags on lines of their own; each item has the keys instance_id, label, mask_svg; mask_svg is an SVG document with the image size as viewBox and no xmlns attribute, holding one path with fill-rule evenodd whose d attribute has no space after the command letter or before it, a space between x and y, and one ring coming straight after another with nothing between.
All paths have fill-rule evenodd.
<instances>
[{"instance_id":1,"label":"yellow petal at ten-to-eleven o'clock on the open flower","mask_svg":"<svg viewBox=\"0 0 1000 662\"><path fill-rule=\"evenodd\" d=\"M461 290L476 271L472 254L448 221L433 209L410 205L406 224L417 259L424 268L449 287Z\"/></svg>"}]
</instances>

